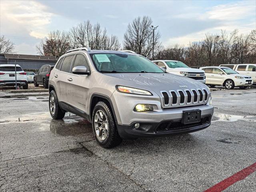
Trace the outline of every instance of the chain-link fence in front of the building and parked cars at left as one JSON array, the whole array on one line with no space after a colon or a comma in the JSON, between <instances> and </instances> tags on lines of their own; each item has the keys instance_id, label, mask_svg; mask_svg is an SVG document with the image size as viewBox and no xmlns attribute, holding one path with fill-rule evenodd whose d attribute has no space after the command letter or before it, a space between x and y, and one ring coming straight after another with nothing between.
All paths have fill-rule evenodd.
<instances>
[{"instance_id":1,"label":"chain-link fence in front of the building and parked cars at left","mask_svg":"<svg viewBox=\"0 0 256 192\"><path fill-rule=\"evenodd\" d=\"M48 88L55 64L55 61L1 61L0 90Z\"/></svg>"}]
</instances>

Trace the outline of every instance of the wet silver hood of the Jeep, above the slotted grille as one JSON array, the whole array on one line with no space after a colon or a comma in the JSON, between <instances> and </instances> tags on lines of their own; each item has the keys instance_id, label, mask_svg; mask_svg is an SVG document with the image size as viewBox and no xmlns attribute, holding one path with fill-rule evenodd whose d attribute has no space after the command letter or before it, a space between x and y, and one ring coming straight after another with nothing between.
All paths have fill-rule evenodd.
<instances>
[{"instance_id":1,"label":"wet silver hood of the Jeep, above the slotted grille","mask_svg":"<svg viewBox=\"0 0 256 192\"><path fill-rule=\"evenodd\" d=\"M116 78L114 80L116 85L144 89L157 94L163 90L207 89L205 84L197 80L170 73L113 73L105 75Z\"/></svg>"}]
</instances>

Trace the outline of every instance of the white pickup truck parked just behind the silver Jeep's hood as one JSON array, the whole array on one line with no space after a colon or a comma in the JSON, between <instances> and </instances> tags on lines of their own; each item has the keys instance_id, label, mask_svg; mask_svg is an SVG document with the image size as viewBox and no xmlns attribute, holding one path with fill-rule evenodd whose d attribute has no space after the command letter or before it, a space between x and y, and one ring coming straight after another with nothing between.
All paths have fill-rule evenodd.
<instances>
[{"instance_id":1,"label":"white pickup truck parked just behind the silver Jeep's hood","mask_svg":"<svg viewBox=\"0 0 256 192\"><path fill-rule=\"evenodd\" d=\"M190 68L182 62L174 60L154 60L152 62L164 68L168 73L186 76L205 84L205 74L203 70Z\"/></svg>"}]
</instances>

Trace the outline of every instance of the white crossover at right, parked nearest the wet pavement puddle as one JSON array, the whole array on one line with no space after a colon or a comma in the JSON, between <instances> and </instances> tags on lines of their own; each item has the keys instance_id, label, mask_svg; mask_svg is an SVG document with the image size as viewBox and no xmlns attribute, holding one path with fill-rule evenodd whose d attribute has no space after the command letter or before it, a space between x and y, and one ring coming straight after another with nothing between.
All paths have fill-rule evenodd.
<instances>
[{"instance_id":1,"label":"white crossover at right, parked nearest the wet pavement puddle","mask_svg":"<svg viewBox=\"0 0 256 192\"><path fill-rule=\"evenodd\" d=\"M228 67L200 67L206 76L205 84L210 86L222 85L226 89L233 89L235 86L246 88L252 85L252 77L239 74Z\"/></svg>"}]
</instances>

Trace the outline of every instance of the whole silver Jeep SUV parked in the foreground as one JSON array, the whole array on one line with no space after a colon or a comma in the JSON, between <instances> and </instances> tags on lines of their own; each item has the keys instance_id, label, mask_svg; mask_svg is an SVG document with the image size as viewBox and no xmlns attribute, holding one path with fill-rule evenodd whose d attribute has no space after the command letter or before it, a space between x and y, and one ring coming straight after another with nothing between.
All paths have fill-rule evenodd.
<instances>
[{"instance_id":1,"label":"whole silver Jeep SUV parked in the foreground","mask_svg":"<svg viewBox=\"0 0 256 192\"><path fill-rule=\"evenodd\" d=\"M166 73L132 52L70 50L53 68L49 92L52 118L67 111L86 118L105 148L122 139L202 130L214 110L205 84Z\"/></svg>"}]
</instances>

